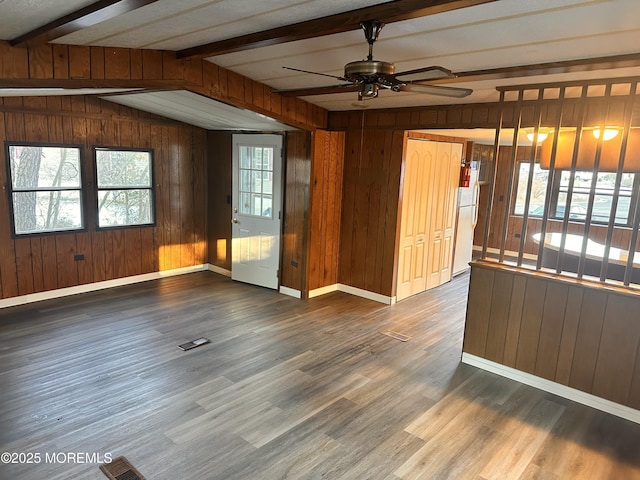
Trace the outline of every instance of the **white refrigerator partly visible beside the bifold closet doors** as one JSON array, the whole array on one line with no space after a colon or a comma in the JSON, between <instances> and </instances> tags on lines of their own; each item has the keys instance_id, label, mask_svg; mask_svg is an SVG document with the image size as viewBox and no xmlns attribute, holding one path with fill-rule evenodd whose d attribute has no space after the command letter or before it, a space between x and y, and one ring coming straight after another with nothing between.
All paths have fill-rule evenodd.
<instances>
[{"instance_id":1,"label":"white refrigerator partly visible beside the bifold closet doors","mask_svg":"<svg viewBox=\"0 0 640 480\"><path fill-rule=\"evenodd\" d=\"M469 262L473 255L473 231L478 222L478 199L480 197L476 165L475 162L472 163L469 186L458 189L458 218L456 222L456 243L453 252L453 275L458 275L468 270Z\"/></svg>"}]
</instances>

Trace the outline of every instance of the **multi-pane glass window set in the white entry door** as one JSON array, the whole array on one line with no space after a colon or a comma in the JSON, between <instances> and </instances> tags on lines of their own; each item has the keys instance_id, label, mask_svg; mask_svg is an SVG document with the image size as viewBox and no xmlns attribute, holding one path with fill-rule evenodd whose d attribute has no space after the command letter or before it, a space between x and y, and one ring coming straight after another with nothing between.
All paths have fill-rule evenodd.
<instances>
[{"instance_id":1,"label":"multi-pane glass window set in the white entry door","mask_svg":"<svg viewBox=\"0 0 640 480\"><path fill-rule=\"evenodd\" d=\"M273 218L273 147L240 147L240 213Z\"/></svg>"}]
</instances>

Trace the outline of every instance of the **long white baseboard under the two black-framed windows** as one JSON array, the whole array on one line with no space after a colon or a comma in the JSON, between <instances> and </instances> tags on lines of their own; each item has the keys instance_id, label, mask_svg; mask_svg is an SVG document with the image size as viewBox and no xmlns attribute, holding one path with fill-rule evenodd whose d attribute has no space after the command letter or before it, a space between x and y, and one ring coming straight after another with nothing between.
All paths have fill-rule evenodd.
<instances>
[{"instance_id":1,"label":"long white baseboard under the two black-framed windows","mask_svg":"<svg viewBox=\"0 0 640 480\"><path fill-rule=\"evenodd\" d=\"M48 290L46 292L30 293L28 295L20 295L18 297L11 297L0 300L0 309L15 307L18 305L26 305L33 302L41 302L43 300L68 297L70 295L77 295L79 293L95 292L98 290L104 290L106 288L121 287L124 285L131 285L133 283L147 282L149 280L157 280L159 278L202 272L208 269L208 264L194 265L193 267L174 268L172 270L163 270L161 272L144 273L142 275L133 275L131 277L87 283L84 285L77 285L75 287L58 288L56 290Z\"/></svg>"}]
</instances>

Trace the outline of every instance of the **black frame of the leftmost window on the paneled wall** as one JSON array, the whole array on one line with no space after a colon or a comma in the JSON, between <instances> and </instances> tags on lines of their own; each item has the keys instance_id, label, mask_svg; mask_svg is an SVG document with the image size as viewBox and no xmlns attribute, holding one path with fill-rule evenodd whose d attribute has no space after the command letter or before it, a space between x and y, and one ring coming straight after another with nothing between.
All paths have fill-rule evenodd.
<instances>
[{"instance_id":1,"label":"black frame of the leftmost window on the paneled wall","mask_svg":"<svg viewBox=\"0 0 640 480\"><path fill-rule=\"evenodd\" d=\"M77 149L78 150L78 170L79 170L79 179L80 185L79 187L52 187L52 188L31 188L31 189L14 189L13 187L13 175L11 170L11 147L50 147L50 148L69 148L69 149ZM5 166L6 166L6 174L7 174L7 193L8 193L8 208L9 208L9 223L11 224L11 238L29 238L29 237L39 237L43 235L60 235L60 234L73 234L73 233L82 233L87 232L87 215L85 204L87 201L87 181L85 178L85 169L83 165L84 159L84 145L81 144L73 144L73 143L56 143L56 142L26 142L19 140L5 140L4 142L4 152L5 152ZM62 228L62 229L53 229L53 230L43 230L39 232L26 232L26 233L18 233L16 232L16 218L15 218L15 205L13 194L16 192L60 192L60 191L70 191L70 192L79 192L80 195L80 228Z\"/></svg>"}]
</instances>

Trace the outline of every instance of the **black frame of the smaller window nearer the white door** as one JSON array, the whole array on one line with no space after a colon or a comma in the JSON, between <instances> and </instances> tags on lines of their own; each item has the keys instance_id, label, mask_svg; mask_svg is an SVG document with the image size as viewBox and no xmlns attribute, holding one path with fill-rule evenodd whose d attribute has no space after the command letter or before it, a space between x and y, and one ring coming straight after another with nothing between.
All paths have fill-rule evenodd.
<instances>
[{"instance_id":1,"label":"black frame of the smaller window nearer the white door","mask_svg":"<svg viewBox=\"0 0 640 480\"><path fill-rule=\"evenodd\" d=\"M155 154L153 148L137 148L137 147L117 147L117 146L105 146L105 145L94 145L91 147L92 157L93 157L93 173L94 173L94 200L95 200L95 228L96 231L105 231L105 230L114 230L114 229L127 229L127 228L147 228L147 227L155 227L156 223L156 182L155 182ZM113 152L145 152L149 154L149 165L151 171L149 172L149 187L118 187L118 188L104 188L100 187L98 183L98 151L113 151ZM134 223L127 225L107 225L100 226L100 192L103 191L119 191L119 190L148 190L149 200L150 200L150 208L151 208L151 222L149 223Z\"/></svg>"}]
</instances>

